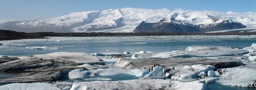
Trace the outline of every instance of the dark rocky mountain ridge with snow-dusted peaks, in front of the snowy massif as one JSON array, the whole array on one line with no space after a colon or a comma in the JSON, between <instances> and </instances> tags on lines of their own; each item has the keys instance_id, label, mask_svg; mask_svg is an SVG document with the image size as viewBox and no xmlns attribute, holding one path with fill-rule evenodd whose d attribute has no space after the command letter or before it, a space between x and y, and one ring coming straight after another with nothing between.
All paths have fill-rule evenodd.
<instances>
[{"instance_id":1,"label":"dark rocky mountain ridge with snow-dusted peaks, in front of the snowy massif","mask_svg":"<svg viewBox=\"0 0 256 90\"><path fill-rule=\"evenodd\" d=\"M141 32L177 32L177 33L203 33L209 31L220 31L220 30L228 30L228 29L241 29L246 28L247 26L233 22L231 20L223 20L221 23L216 24L200 24L200 25L192 25L186 23L182 20L175 20L171 18L171 22L164 22L166 19L160 20L157 23L146 23L144 21L141 22L135 29L135 33ZM216 21L212 19L212 21ZM180 24L174 23L179 22Z\"/></svg>"}]
</instances>

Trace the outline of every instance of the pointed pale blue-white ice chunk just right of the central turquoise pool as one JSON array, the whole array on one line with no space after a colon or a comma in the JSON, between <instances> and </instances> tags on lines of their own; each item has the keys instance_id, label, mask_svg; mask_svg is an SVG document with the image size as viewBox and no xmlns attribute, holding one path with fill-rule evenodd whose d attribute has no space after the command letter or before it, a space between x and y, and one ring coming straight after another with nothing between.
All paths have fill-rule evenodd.
<instances>
[{"instance_id":1,"label":"pointed pale blue-white ice chunk just right of the central turquoise pool","mask_svg":"<svg viewBox=\"0 0 256 90\"><path fill-rule=\"evenodd\" d=\"M165 79L165 74L163 72L163 67L162 66L156 66L154 67L154 70L151 71L146 78L154 78L154 79Z\"/></svg>"}]
</instances>

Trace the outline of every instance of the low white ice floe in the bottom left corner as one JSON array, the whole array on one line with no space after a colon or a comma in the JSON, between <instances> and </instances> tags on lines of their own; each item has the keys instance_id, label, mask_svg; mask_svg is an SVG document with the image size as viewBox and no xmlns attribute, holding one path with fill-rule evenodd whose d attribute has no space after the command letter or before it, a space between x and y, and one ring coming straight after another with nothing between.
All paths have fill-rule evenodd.
<instances>
[{"instance_id":1,"label":"low white ice floe in the bottom left corner","mask_svg":"<svg viewBox=\"0 0 256 90\"><path fill-rule=\"evenodd\" d=\"M13 83L0 86L0 90L61 90L49 83Z\"/></svg>"}]
</instances>

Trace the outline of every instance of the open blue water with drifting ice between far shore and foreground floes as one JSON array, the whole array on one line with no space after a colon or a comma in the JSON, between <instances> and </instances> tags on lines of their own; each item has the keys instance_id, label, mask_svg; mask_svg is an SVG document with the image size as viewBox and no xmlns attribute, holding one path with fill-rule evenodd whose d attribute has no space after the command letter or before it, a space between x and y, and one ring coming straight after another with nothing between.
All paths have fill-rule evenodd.
<instances>
[{"instance_id":1,"label":"open blue water with drifting ice between far shore and foreground floes","mask_svg":"<svg viewBox=\"0 0 256 90\"><path fill-rule=\"evenodd\" d=\"M188 46L231 46L245 48L256 43L256 35L191 35L191 36L84 36L46 37L0 41L0 55L31 56L53 52L123 53L152 51L155 53L185 50Z\"/></svg>"}]
</instances>

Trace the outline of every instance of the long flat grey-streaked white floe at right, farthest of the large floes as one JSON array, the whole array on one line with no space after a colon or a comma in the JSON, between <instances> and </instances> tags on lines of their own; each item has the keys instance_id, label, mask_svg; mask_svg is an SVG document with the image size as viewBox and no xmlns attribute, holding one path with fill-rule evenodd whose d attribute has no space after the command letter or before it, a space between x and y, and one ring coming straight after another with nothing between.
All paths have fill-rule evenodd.
<instances>
[{"instance_id":1,"label":"long flat grey-streaked white floe at right, farthest of the large floes","mask_svg":"<svg viewBox=\"0 0 256 90\"><path fill-rule=\"evenodd\" d=\"M158 53L152 57L170 58L170 57L216 57L216 56L234 56L249 53L244 49L232 48L227 46L189 46L185 51L171 51Z\"/></svg>"}]
</instances>

